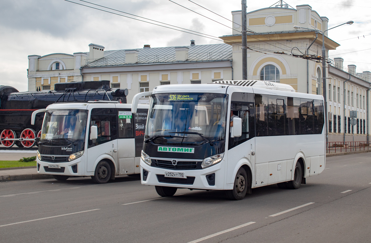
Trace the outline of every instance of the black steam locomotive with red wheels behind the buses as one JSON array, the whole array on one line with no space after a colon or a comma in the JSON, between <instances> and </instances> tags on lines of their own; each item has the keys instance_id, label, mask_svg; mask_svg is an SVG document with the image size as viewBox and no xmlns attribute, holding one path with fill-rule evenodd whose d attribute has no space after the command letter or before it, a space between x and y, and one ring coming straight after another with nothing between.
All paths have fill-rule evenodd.
<instances>
[{"instance_id":1,"label":"black steam locomotive with red wheels behind the buses","mask_svg":"<svg viewBox=\"0 0 371 243\"><path fill-rule=\"evenodd\" d=\"M110 81L56 83L54 91L18 92L0 86L0 141L6 148L16 144L30 148L40 137L44 113L31 125L32 112L57 102L119 101L127 103L128 89L112 89Z\"/></svg>"}]
</instances>

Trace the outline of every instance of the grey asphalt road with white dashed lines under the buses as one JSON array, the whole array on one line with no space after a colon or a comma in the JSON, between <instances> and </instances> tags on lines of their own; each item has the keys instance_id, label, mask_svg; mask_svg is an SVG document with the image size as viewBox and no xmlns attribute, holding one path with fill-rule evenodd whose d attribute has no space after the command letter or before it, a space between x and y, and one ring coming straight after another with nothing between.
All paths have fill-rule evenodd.
<instances>
[{"instance_id":1,"label":"grey asphalt road with white dashed lines under the buses","mask_svg":"<svg viewBox=\"0 0 371 243\"><path fill-rule=\"evenodd\" d=\"M161 198L127 176L3 182L0 242L371 242L370 158L330 157L298 190L270 185L241 201L187 189Z\"/></svg>"}]
</instances>

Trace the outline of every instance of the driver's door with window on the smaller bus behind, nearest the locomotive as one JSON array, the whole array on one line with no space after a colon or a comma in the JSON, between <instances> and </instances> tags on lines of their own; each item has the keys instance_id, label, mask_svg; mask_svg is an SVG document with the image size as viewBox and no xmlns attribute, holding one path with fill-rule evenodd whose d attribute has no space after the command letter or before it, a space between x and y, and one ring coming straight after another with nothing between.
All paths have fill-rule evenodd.
<instances>
[{"instance_id":1,"label":"driver's door with window on the smaller bus behind, nearest the locomotive","mask_svg":"<svg viewBox=\"0 0 371 243\"><path fill-rule=\"evenodd\" d=\"M116 108L93 108L91 111L89 125L98 127L98 138L88 140L86 171L95 171L94 165L96 159L104 154L112 157L114 160L113 162L117 166Z\"/></svg>"}]
</instances>

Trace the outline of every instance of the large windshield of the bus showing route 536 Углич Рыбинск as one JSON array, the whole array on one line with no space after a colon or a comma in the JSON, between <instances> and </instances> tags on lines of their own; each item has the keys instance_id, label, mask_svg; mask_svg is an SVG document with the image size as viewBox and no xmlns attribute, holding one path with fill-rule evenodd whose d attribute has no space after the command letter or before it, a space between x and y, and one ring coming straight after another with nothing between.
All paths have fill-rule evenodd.
<instances>
[{"instance_id":1,"label":"large windshield of the bus showing route 536 \u0423\u0433\u043b\u0438\u0447 \u0420\u044b\u0431\u0438\u043d\u0441\u043a","mask_svg":"<svg viewBox=\"0 0 371 243\"><path fill-rule=\"evenodd\" d=\"M227 95L160 93L152 95L145 142L200 145L225 138Z\"/></svg>"}]
</instances>

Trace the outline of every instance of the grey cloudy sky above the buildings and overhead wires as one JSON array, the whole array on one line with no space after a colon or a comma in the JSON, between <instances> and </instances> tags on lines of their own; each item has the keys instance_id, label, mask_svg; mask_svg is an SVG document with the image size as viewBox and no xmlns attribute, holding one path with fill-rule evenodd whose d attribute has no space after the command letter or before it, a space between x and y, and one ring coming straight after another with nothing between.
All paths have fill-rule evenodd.
<instances>
[{"instance_id":1,"label":"grey cloudy sky above the buildings and overhead wires","mask_svg":"<svg viewBox=\"0 0 371 243\"><path fill-rule=\"evenodd\" d=\"M81 0L71 1L93 6ZM175 3L170 0L88 1L212 36L232 33L228 27L175 4L181 4L210 19L232 26L228 20L216 16L189 0L172 0ZM231 11L241 9L241 0L192 1L230 20ZM347 24L329 30L329 37L341 45L337 50L329 53L330 58L344 58L344 66L355 64L357 72L371 71L371 61L368 58L371 50L366 50L371 48L368 44L371 40L370 1L287 0L286 2L294 8L297 5L309 4L320 16L328 17L329 28L353 20L352 25ZM275 0L247 0L247 12L269 7L275 3ZM19 91L27 91L27 56L29 55L88 52L90 43L102 45L105 50L142 48L146 44L151 47L185 46L190 44L191 39L196 40L197 45L222 43L65 0L1 0L0 85L10 85Z\"/></svg>"}]
</instances>

